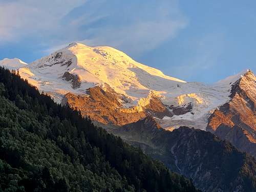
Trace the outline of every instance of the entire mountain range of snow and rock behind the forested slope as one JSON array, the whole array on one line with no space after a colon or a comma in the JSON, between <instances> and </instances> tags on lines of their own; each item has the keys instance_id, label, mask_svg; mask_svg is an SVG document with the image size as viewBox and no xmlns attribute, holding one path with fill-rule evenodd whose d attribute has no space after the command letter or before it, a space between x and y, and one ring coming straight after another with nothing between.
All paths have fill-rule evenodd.
<instances>
[{"instance_id":1,"label":"entire mountain range of snow and rock behind the forested slope","mask_svg":"<svg viewBox=\"0 0 256 192\"><path fill-rule=\"evenodd\" d=\"M111 47L72 43L0 66L140 147L202 191L256 191L256 77L185 82Z\"/></svg>"}]
</instances>

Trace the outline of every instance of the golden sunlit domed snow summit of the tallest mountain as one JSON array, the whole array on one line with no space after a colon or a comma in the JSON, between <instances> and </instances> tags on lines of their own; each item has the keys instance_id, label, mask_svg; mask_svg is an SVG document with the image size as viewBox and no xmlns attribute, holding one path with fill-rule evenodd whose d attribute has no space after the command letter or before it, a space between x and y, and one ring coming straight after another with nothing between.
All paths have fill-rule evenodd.
<instances>
[{"instance_id":1,"label":"golden sunlit domed snow summit of the tallest mountain","mask_svg":"<svg viewBox=\"0 0 256 192\"><path fill-rule=\"evenodd\" d=\"M134 99L147 96L149 90L162 88L163 82L166 85L185 82L142 65L114 48L89 47L79 43L72 43L32 62L30 66L38 75L49 78L61 77L65 72L78 75L83 89L108 84L117 93Z\"/></svg>"}]
</instances>

